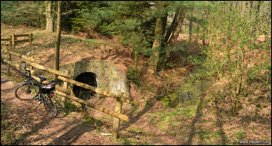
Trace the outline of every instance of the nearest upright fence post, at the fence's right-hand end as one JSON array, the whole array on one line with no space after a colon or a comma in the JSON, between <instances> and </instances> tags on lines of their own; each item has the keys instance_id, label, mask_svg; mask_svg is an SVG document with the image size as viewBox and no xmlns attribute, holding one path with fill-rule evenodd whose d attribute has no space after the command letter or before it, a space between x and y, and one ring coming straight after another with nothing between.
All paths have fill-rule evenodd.
<instances>
[{"instance_id":1,"label":"nearest upright fence post, at the fence's right-hand end","mask_svg":"<svg viewBox=\"0 0 272 146\"><path fill-rule=\"evenodd\" d=\"M121 90L118 90L117 94L123 96L124 93L121 92ZM115 112L121 113L121 109L122 109L122 102L119 100L116 100ZM113 133L112 133L114 139L117 139L117 137L118 137L119 123L120 123L120 119L117 117L114 117L114 119L113 119Z\"/></svg>"}]
</instances>

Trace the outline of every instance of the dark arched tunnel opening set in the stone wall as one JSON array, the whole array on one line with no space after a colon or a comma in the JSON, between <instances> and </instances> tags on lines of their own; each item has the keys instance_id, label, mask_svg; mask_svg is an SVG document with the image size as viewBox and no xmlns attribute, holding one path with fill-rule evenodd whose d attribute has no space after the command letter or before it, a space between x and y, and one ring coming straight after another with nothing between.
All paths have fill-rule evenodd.
<instances>
[{"instance_id":1,"label":"dark arched tunnel opening set in the stone wall","mask_svg":"<svg viewBox=\"0 0 272 146\"><path fill-rule=\"evenodd\" d=\"M92 72L84 72L84 73L79 74L75 78L75 81L78 81L78 82L81 82L81 83L84 83L84 84L87 84L90 86L97 87L96 74L94 74ZM73 85L73 92L77 98L80 98L82 100L88 100L90 98L96 97L95 92L85 89L85 88L82 88L80 86L76 86L76 85Z\"/></svg>"}]
</instances>

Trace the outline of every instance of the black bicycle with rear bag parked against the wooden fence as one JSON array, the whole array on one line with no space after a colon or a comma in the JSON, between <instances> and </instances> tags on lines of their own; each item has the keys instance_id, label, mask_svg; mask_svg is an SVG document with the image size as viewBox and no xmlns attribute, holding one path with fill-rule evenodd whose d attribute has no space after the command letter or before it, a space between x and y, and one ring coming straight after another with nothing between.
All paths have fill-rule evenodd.
<instances>
[{"instance_id":1,"label":"black bicycle with rear bag parked against the wooden fence","mask_svg":"<svg viewBox=\"0 0 272 146\"><path fill-rule=\"evenodd\" d=\"M15 90L15 97L19 100L37 100L40 101L40 104L44 104L44 108L49 113L49 115L55 117L58 114L58 108L56 104L56 99L54 98L54 92L56 80L47 82L45 84L42 84L43 81L46 81L46 78L40 77L41 84L35 80L31 74L30 70L26 69L26 62L24 66L24 75L27 77L27 80L25 80L25 83L19 85ZM29 75L27 75L27 72L29 72ZM33 80L36 83L33 83ZM32 86L31 86L32 85ZM36 109L40 106L40 104L34 109Z\"/></svg>"}]
</instances>

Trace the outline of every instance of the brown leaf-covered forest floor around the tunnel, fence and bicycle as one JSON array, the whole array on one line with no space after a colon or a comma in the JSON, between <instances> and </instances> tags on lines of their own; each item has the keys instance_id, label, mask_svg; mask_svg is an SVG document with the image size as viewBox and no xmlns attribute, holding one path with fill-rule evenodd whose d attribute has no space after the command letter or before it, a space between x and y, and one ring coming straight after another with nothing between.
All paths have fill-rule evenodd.
<instances>
[{"instance_id":1,"label":"brown leaf-covered forest floor around the tunnel, fence and bicycle","mask_svg":"<svg viewBox=\"0 0 272 146\"><path fill-rule=\"evenodd\" d=\"M56 33L1 24L1 38L8 38L11 33L28 34L29 31L33 32L32 46L21 43L13 51L33 56L38 64L52 67ZM177 45L186 39L187 35L180 35ZM125 70L134 66L135 60L125 50L126 47L115 38L99 36L84 40L63 32L60 65L82 60L113 60L126 76ZM197 52L197 46L191 50ZM21 61L14 56L12 60ZM146 61L145 56L139 56L139 67L144 68ZM143 77L147 83L144 87L130 84L130 98L134 103L122 106L122 113L129 116L130 121L121 120L119 138L112 139L101 133L111 133L113 117L88 107L82 112L76 102L68 100L66 109L58 104L56 117L48 115L42 105L33 111L38 101L20 101L14 96L15 88L25 80L21 71L11 66L7 75L6 66L1 59L1 145L239 145L239 141L249 140L270 141L266 145L271 145L271 90L265 90L263 96L255 96L251 99L254 102L248 101L249 106L243 105L236 116L226 107L214 104L208 96L215 87L224 87L221 82L213 83L213 88L202 95L198 104L165 108L156 99L157 91L152 90L161 80L147 73ZM52 78L51 74L38 71L37 76ZM60 98L57 96L58 103ZM88 101L111 110L115 108L112 98Z\"/></svg>"}]
</instances>

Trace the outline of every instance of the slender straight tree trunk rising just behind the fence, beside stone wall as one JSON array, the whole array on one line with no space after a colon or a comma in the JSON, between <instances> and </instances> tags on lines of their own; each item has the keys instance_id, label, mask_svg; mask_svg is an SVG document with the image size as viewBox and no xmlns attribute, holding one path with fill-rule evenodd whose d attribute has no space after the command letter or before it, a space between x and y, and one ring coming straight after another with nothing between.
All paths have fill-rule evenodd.
<instances>
[{"instance_id":1,"label":"slender straight tree trunk rising just behind the fence, beside stone wall","mask_svg":"<svg viewBox=\"0 0 272 146\"><path fill-rule=\"evenodd\" d=\"M54 59L54 69L59 70L60 65L60 25L61 25L61 8L62 1L58 1L58 20L57 20L57 35L55 44L55 59ZM54 74L53 79L56 80L58 75Z\"/></svg>"}]
</instances>

